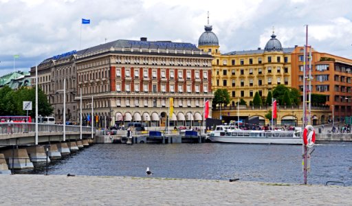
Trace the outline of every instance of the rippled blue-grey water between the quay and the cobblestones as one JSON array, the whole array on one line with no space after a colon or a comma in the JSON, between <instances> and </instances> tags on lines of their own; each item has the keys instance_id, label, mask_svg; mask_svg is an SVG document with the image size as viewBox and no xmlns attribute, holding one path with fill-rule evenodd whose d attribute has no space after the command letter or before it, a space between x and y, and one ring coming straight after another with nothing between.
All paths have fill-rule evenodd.
<instances>
[{"instance_id":1,"label":"rippled blue-grey water between the quay and the cobblestones","mask_svg":"<svg viewBox=\"0 0 352 206\"><path fill-rule=\"evenodd\" d=\"M309 184L352 185L352 143L314 148ZM303 183L302 146L290 145L96 144L52 161L49 174L146 176L146 167L153 177ZM45 174L45 168L27 172Z\"/></svg>"}]
</instances>

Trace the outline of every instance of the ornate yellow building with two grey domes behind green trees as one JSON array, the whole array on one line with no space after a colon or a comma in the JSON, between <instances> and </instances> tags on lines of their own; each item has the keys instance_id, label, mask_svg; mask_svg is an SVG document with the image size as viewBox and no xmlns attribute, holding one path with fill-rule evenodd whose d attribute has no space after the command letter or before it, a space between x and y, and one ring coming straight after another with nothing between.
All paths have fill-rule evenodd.
<instances>
[{"instance_id":1,"label":"ornate yellow building with two grey domes behind green trees","mask_svg":"<svg viewBox=\"0 0 352 206\"><path fill-rule=\"evenodd\" d=\"M239 98L250 104L256 91L267 96L277 84L291 87L292 48L283 48L276 35L265 45L265 49L234 51L221 54L219 41L212 32L212 26L206 25L205 32L199 37L198 47L203 52L211 52L212 90L228 89L234 106Z\"/></svg>"}]
</instances>

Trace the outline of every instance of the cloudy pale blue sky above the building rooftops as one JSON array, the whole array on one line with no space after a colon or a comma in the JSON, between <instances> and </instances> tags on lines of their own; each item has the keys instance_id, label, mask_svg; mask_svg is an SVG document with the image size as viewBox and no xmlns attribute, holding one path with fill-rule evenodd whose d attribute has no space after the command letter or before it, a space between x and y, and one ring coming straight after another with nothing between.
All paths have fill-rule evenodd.
<instances>
[{"instance_id":1,"label":"cloudy pale blue sky above the building rooftops","mask_svg":"<svg viewBox=\"0 0 352 206\"><path fill-rule=\"evenodd\" d=\"M105 41L145 36L197 45L208 11L221 53L265 47L273 26L283 47L304 45L309 25L309 45L352 58L349 0L0 0L0 76Z\"/></svg>"}]
</instances>

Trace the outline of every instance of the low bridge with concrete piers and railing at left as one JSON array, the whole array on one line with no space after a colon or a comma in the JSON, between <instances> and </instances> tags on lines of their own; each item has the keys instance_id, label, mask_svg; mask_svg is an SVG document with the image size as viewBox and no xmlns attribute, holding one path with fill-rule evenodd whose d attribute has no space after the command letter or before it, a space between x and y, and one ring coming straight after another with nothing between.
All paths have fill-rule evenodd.
<instances>
[{"instance_id":1,"label":"low bridge with concrete piers and railing at left","mask_svg":"<svg viewBox=\"0 0 352 206\"><path fill-rule=\"evenodd\" d=\"M0 123L0 174L8 169L34 168L33 162L50 162L93 143L91 127L38 124ZM36 139L37 138L37 139ZM36 144L38 143L38 144Z\"/></svg>"}]
</instances>

